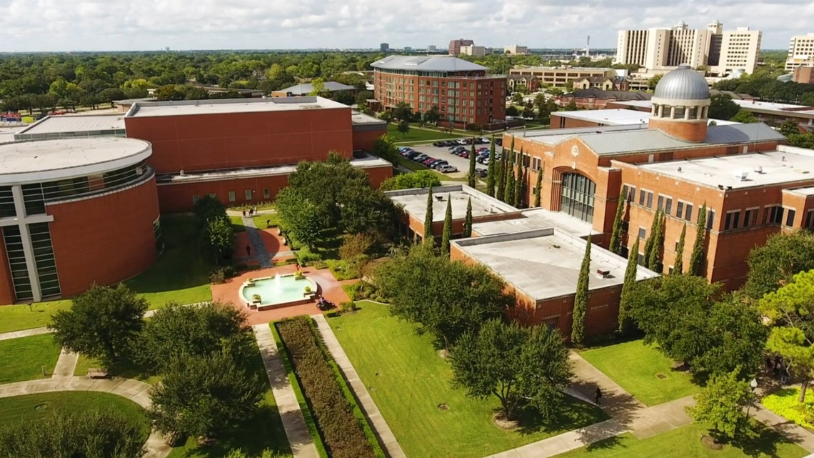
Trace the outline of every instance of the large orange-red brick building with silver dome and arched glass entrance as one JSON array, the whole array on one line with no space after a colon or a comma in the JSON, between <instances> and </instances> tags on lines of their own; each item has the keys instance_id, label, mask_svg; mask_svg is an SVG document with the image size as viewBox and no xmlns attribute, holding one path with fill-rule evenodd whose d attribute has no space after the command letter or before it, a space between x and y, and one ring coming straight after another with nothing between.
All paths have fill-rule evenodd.
<instances>
[{"instance_id":1,"label":"large orange-red brick building with silver dome and arched glass entrance","mask_svg":"<svg viewBox=\"0 0 814 458\"><path fill-rule=\"evenodd\" d=\"M542 208L588 223L602 246L617 206L626 202L623 254L636 237L644 246L656 210L663 209L663 273L672 271L685 225L685 246L693 244L706 204L703 270L730 289L746 279L751 248L770 234L814 227L814 151L784 146L785 137L762 123L707 126L709 90L688 68L667 73L651 102L647 128L515 134L514 153L529 168L525 201L543 174ZM511 139L506 136L504 145ZM684 266L690 254L685 248Z\"/></svg>"}]
</instances>

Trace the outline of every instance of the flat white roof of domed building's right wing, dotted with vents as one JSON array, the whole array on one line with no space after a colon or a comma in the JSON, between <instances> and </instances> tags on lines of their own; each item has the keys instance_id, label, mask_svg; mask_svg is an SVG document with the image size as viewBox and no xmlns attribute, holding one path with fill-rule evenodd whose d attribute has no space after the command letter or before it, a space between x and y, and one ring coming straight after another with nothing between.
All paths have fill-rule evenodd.
<instances>
[{"instance_id":1,"label":"flat white roof of domed building's right wing, dotted with vents","mask_svg":"<svg viewBox=\"0 0 814 458\"><path fill-rule=\"evenodd\" d=\"M710 187L720 185L742 189L814 180L814 150L781 145L777 147L777 151L772 152L654 162L638 166L644 170ZM746 174L746 178L739 178L741 174Z\"/></svg>"}]
</instances>

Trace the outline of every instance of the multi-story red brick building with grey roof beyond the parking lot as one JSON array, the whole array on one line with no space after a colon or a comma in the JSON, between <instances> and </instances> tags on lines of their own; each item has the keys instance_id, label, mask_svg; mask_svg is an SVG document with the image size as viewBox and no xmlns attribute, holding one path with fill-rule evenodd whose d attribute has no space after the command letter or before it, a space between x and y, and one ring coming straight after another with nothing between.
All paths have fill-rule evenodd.
<instances>
[{"instance_id":1,"label":"multi-story red brick building with grey roof beyond the parking lot","mask_svg":"<svg viewBox=\"0 0 814 458\"><path fill-rule=\"evenodd\" d=\"M392 55L370 64L375 97L384 108L409 103L414 112L438 107L441 123L465 127L505 121L505 75L453 56Z\"/></svg>"}]
</instances>

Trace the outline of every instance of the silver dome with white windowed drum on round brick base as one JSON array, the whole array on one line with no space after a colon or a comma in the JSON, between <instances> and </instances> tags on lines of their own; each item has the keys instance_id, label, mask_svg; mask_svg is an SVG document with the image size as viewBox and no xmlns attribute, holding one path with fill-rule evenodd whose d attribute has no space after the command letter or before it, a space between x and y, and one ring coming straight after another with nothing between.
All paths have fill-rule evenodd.
<instances>
[{"instance_id":1,"label":"silver dome with white windowed drum on round brick base","mask_svg":"<svg viewBox=\"0 0 814 458\"><path fill-rule=\"evenodd\" d=\"M681 64L664 75L651 101L650 129L688 142L707 138L710 90L704 77L689 65Z\"/></svg>"}]
</instances>

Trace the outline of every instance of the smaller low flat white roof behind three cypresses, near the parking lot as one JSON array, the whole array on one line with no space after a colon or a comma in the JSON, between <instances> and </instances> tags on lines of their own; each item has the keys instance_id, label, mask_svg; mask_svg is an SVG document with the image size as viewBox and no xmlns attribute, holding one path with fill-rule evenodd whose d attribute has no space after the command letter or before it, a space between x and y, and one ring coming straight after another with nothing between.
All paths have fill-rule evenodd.
<instances>
[{"instance_id":1,"label":"smaller low flat white roof behind three cypresses, near the parking lot","mask_svg":"<svg viewBox=\"0 0 814 458\"><path fill-rule=\"evenodd\" d=\"M427 214L427 191L427 188L404 189L388 191L385 194L396 204L403 205L407 213L419 221L424 221ZM448 202L451 202L452 205L453 219L466 218L466 203L470 198L472 199L472 218L518 211L511 205L465 185L440 186L432 190L432 221L444 221Z\"/></svg>"}]
</instances>

